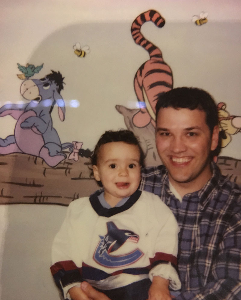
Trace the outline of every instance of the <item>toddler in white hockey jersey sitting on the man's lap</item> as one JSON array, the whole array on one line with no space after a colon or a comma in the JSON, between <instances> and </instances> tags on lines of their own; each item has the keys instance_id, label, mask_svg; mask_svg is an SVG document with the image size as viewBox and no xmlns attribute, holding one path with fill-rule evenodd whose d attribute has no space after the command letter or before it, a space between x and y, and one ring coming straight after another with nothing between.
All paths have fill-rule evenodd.
<instances>
[{"instance_id":1,"label":"toddler in white hockey jersey sitting on the man's lap","mask_svg":"<svg viewBox=\"0 0 241 300\"><path fill-rule=\"evenodd\" d=\"M103 189L74 200L55 237L51 272L65 299L82 300L88 281L111 300L171 299L176 219L161 199L138 190L144 155L131 131L106 131L91 158Z\"/></svg>"}]
</instances>

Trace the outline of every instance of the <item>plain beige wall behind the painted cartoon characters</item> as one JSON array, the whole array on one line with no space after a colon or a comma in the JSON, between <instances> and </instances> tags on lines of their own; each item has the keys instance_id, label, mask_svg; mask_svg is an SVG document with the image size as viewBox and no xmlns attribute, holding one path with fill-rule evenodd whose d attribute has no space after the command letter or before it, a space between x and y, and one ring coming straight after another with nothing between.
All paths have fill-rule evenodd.
<instances>
[{"instance_id":1,"label":"plain beige wall behind the painted cartoon characters","mask_svg":"<svg viewBox=\"0 0 241 300\"><path fill-rule=\"evenodd\" d=\"M148 4L140 0L120 4L114 0L2 0L0 106L6 101L22 101L17 63L43 62L44 68L36 78L51 69L65 77L62 95L66 120L61 123L56 110L52 115L62 142L78 140L83 141L84 148L92 148L105 129L125 127L114 106L136 107L133 78L148 59L133 42L130 26L139 13L149 8L163 14L166 25L158 29L145 24L143 33L163 52L173 71L174 87L204 88L217 102L226 102L231 114L241 116L238 0L151 0ZM202 10L209 13L209 20L197 27L190 20ZM86 58L73 54L76 42L90 46ZM71 108L72 99L80 106ZM12 134L14 125L11 117L0 118L0 137ZM240 133L233 136L222 154L241 159L240 137ZM65 208L60 206L0 206L1 285L5 299L58 299L48 268L51 241L64 213Z\"/></svg>"}]
</instances>

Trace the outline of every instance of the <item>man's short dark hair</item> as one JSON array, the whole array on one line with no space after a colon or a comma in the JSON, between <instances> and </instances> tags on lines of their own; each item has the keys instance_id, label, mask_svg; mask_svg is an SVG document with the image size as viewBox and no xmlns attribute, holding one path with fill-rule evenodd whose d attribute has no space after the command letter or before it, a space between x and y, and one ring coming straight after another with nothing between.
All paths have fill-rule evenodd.
<instances>
[{"instance_id":1,"label":"man's short dark hair","mask_svg":"<svg viewBox=\"0 0 241 300\"><path fill-rule=\"evenodd\" d=\"M206 114L206 124L212 134L215 125L218 125L217 106L208 92L199 88L174 88L159 96L156 104L156 120L161 108L189 108L203 110Z\"/></svg>"}]
</instances>

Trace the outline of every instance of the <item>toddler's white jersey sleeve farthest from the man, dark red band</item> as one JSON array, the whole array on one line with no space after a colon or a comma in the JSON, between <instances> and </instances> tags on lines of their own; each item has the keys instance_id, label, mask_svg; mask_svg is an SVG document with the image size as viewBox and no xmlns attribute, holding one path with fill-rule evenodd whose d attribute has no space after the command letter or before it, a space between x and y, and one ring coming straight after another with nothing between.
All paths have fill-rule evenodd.
<instances>
[{"instance_id":1,"label":"toddler's white jersey sleeve farthest from the man, dark red band","mask_svg":"<svg viewBox=\"0 0 241 300\"><path fill-rule=\"evenodd\" d=\"M52 245L52 266L50 268L55 283L61 290L64 299L70 299L68 298L68 290L82 281L81 266L77 267L73 260L74 245L71 237L70 219L74 208L71 204Z\"/></svg>"}]
</instances>

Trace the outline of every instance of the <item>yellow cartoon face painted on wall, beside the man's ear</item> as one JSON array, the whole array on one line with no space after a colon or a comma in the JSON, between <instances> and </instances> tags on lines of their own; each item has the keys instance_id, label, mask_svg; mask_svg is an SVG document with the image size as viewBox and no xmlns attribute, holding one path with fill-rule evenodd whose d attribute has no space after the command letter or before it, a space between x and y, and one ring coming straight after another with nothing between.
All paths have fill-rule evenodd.
<instances>
[{"instance_id":1,"label":"yellow cartoon face painted on wall, beside the man's ear","mask_svg":"<svg viewBox=\"0 0 241 300\"><path fill-rule=\"evenodd\" d=\"M232 140L231 135L241 131L241 116L230 116L226 104L220 102L218 107L219 131L222 139L221 147L226 147Z\"/></svg>"}]
</instances>

